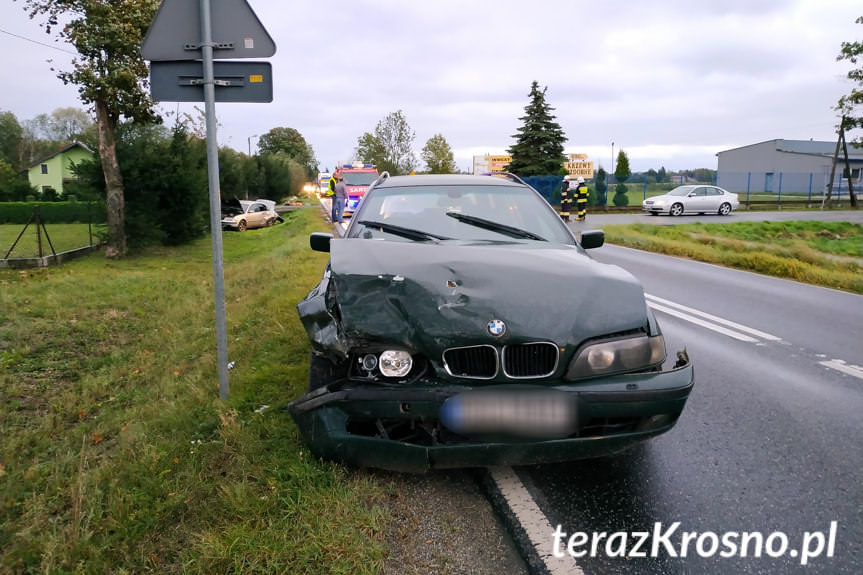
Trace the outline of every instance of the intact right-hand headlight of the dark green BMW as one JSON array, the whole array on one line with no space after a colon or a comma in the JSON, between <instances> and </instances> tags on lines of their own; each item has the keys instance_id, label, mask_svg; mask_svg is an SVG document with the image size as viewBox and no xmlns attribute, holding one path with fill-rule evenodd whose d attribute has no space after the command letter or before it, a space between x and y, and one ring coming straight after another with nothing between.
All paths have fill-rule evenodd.
<instances>
[{"instance_id":1,"label":"intact right-hand headlight of the dark green BMW","mask_svg":"<svg viewBox=\"0 0 863 575\"><path fill-rule=\"evenodd\" d=\"M581 379L646 369L665 361L661 335L598 341L582 347L570 362L567 379Z\"/></svg>"}]
</instances>

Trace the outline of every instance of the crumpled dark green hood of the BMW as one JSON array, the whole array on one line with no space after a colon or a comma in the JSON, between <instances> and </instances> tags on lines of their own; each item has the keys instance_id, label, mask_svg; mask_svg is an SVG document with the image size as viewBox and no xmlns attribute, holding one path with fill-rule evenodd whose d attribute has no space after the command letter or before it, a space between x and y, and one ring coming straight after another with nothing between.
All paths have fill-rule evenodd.
<instances>
[{"instance_id":1,"label":"crumpled dark green hood of the BMW","mask_svg":"<svg viewBox=\"0 0 863 575\"><path fill-rule=\"evenodd\" d=\"M298 310L313 344L342 356L375 341L433 355L483 343L571 346L648 321L641 284L628 272L541 243L333 239L329 280ZM487 330L494 319L507 326L499 338Z\"/></svg>"}]
</instances>

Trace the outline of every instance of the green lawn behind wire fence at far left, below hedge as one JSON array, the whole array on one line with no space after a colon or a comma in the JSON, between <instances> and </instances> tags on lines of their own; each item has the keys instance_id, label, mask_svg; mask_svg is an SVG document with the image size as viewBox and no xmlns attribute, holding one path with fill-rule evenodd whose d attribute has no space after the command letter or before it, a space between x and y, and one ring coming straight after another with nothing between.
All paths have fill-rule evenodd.
<instances>
[{"instance_id":1,"label":"green lawn behind wire fence at far left, below hedge","mask_svg":"<svg viewBox=\"0 0 863 575\"><path fill-rule=\"evenodd\" d=\"M44 229L37 228L35 223L31 223L26 229L23 224L0 225L0 258L6 256L13 244L15 247L9 254L10 258L38 257L40 239L42 256L51 255L51 246L58 254L83 248L90 245L91 230L93 244L98 244L99 226L96 225L93 225L91 229L88 229L87 224L46 224Z\"/></svg>"}]
</instances>

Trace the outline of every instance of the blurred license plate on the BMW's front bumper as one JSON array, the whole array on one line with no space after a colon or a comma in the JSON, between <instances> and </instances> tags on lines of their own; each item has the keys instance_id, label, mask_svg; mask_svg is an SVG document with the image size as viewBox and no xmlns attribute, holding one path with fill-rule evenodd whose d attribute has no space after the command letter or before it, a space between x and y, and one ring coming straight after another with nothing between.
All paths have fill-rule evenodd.
<instances>
[{"instance_id":1,"label":"blurred license plate on the BMW's front bumper","mask_svg":"<svg viewBox=\"0 0 863 575\"><path fill-rule=\"evenodd\" d=\"M576 405L569 394L556 390L477 390L447 399L440 419L461 435L553 439L576 430Z\"/></svg>"}]
</instances>

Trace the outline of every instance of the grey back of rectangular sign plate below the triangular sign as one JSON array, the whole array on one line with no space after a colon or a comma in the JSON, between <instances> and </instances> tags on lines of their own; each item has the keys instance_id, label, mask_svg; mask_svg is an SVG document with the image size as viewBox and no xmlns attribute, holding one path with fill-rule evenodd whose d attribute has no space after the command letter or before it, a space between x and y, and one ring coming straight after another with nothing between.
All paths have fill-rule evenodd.
<instances>
[{"instance_id":1,"label":"grey back of rectangular sign plate below the triangular sign","mask_svg":"<svg viewBox=\"0 0 863 575\"><path fill-rule=\"evenodd\" d=\"M216 102L273 101L269 62L213 62ZM157 102L203 102L201 61L150 62L150 94Z\"/></svg>"}]
</instances>

